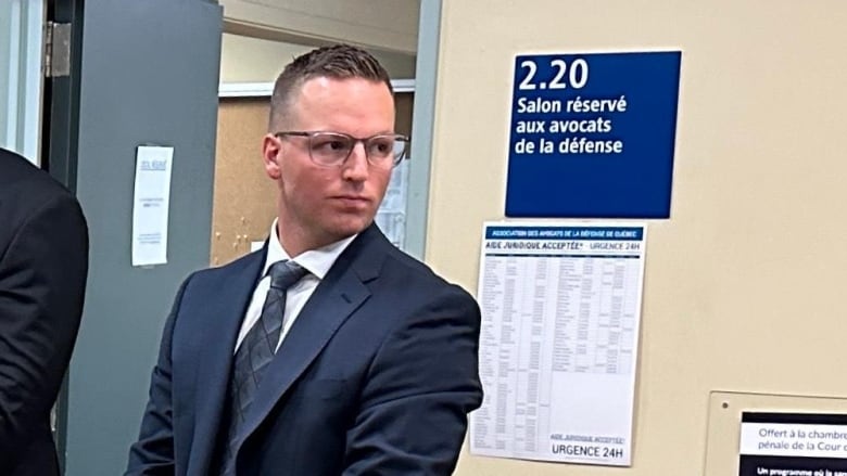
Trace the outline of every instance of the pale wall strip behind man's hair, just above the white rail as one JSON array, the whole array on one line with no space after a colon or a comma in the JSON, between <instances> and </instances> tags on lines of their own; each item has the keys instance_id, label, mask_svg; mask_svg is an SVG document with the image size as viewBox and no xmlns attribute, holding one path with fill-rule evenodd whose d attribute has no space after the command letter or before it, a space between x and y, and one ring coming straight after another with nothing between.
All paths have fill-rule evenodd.
<instances>
[{"instance_id":1,"label":"pale wall strip behind man's hair, just above the white rail","mask_svg":"<svg viewBox=\"0 0 847 476\"><path fill-rule=\"evenodd\" d=\"M220 82L268 82L282 67L311 46L224 34L220 47ZM415 77L415 56L374 51L393 79Z\"/></svg>"}]
</instances>

